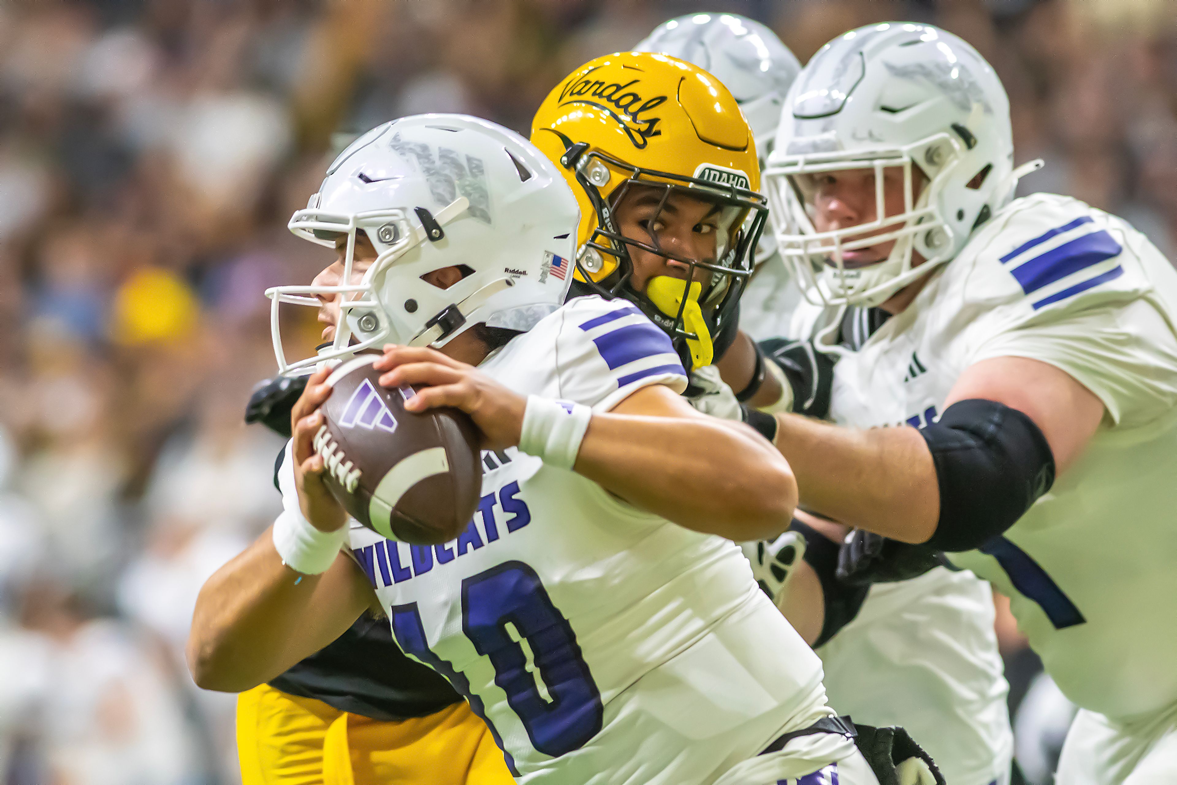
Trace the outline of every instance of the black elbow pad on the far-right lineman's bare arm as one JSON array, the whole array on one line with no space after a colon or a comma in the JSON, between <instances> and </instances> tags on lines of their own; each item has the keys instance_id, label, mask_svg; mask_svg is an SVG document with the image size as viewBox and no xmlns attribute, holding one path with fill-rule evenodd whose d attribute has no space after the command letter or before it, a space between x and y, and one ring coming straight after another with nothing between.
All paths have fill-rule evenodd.
<instances>
[{"instance_id":1,"label":"black elbow pad on the far-right lineman's bare arm","mask_svg":"<svg viewBox=\"0 0 1177 785\"><path fill-rule=\"evenodd\" d=\"M919 432L940 491L940 518L925 543L933 550L979 547L1016 524L1055 483L1046 437L1004 404L962 400Z\"/></svg>"}]
</instances>

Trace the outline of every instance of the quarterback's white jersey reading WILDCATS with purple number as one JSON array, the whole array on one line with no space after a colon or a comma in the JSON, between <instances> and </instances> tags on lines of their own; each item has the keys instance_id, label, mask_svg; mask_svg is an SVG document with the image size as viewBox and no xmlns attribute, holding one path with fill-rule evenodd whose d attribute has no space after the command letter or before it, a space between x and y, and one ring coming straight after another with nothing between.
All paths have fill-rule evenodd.
<instances>
[{"instance_id":1,"label":"quarterback's white jersey reading WILDCATS with purple number","mask_svg":"<svg viewBox=\"0 0 1177 785\"><path fill-rule=\"evenodd\" d=\"M596 295L479 370L597 412L646 385L686 385L661 330ZM357 525L351 546L397 643L467 698L519 781L712 783L740 761L763 767L773 739L832 713L820 661L736 545L514 448L484 466L457 540L410 546ZM782 777L857 756L839 736L804 739L826 757Z\"/></svg>"}]
</instances>

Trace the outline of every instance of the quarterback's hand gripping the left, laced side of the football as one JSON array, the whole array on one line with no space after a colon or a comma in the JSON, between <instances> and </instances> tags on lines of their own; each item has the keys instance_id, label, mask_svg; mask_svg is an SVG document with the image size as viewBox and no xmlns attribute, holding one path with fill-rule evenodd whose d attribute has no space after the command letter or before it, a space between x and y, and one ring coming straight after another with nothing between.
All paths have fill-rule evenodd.
<instances>
[{"instance_id":1,"label":"quarterback's hand gripping the left, laced side of the football","mask_svg":"<svg viewBox=\"0 0 1177 785\"><path fill-rule=\"evenodd\" d=\"M322 427L322 403L331 397L326 384L331 368L317 371L306 381L306 388L291 410L291 431L294 440L294 485L302 517L324 532L333 532L344 525L347 514L331 495L322 480L325 463L314 450L314 434Z\"/></svg>"}]
</instances>

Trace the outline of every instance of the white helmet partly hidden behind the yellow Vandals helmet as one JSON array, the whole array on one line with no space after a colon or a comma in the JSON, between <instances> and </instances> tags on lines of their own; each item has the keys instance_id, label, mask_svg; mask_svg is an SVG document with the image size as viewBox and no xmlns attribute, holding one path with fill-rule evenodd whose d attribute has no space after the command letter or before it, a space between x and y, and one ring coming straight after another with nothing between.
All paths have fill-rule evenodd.
<instances>
[{"instance_id":1,"label":"white helmet partly hidden behind the yellow Vandals helmet","mask_svg":"<svg viewBox=\"0 0 1177 785\"><path fill-rule=\"evenodd\" d=\"M777 34L739 14L687 14L670 19L641 39L634 52L661 52L710 72L731 92L752 129L764 169L782 107L802 64ZM769 232L756 246L757 265L772 255Z\"/></svg>"}]
</instances>

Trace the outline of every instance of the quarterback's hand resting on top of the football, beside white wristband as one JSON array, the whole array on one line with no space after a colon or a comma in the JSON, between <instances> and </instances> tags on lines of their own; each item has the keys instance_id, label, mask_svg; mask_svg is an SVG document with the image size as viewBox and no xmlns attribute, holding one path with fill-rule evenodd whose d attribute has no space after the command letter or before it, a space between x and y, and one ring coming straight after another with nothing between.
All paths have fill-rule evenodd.
<instances>
[{"instance_id":1,"label":"quarterback's hand resting on top of the football, beside white wristband","mask_svg":"<svg viewBox=\"0 0 1177 785\"><path fill-rule=\"evenodd\" d=\"M425 347L384 347L373 365L383 371L385 387L420 387L405 401L410 412L439 406L459 408L474 420L483 434L484 450L503 450L519 444L527 399L494 381L478 368Z\"/></svg>"}]
</instances>

